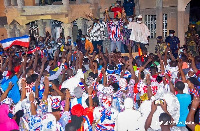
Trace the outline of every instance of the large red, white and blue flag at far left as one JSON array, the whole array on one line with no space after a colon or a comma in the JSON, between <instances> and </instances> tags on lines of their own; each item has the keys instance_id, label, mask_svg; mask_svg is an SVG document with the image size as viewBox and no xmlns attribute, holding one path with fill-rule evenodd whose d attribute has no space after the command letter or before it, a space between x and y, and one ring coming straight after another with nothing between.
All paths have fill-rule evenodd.
<instances>
[{"instance_id":1,"label":"large red, white and blue flag at far left","mask_svg":"<svg viewBox=\"0 0 200 131\"><path fill-rule=\"evenodd\" d=\"M0 41L4 49L8 49L13 45L29 47L29 36L13 37Z\"/></svg>"}]
</instances>

